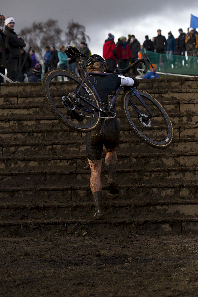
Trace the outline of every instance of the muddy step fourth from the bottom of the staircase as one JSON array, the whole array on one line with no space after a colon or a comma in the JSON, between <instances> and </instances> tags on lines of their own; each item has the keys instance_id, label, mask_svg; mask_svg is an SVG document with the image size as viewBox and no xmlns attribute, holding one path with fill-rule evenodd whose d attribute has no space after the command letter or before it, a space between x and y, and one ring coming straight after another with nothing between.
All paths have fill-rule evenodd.
<instances>
[{"instance_id":1,"label":"muddy step fourth from the bottom of the staircase","mask_svg":"<svg viewBox=\"0 0 198 297\"><path fill-rule=\"evenodd\" d=\"M197 183L198 168L151 168L151 169L118 169L116 172L118 184L122 187L126 184L185 184ZM90 172L88 170L55 170L40 171L25 170L23 172L0 173L1 190L12 188L28 189L34 184L41 189L50 189L52 185L62 188L65 185L85 186L89 184ZM107 172L102 173L102 184L107 182Z\"/></svg>"}]
</instances>

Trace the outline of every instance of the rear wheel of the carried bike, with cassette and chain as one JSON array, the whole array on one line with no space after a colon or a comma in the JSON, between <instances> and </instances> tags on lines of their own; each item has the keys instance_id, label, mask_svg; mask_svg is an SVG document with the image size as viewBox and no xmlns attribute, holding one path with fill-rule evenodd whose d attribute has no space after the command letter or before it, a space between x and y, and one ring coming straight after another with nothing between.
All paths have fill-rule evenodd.
<instances>
[{"instance_id":1,"label":"rear wheel of the carried bike, with cassette and chain","mask_svg":"<svg viewBox=\"0 0 198 297\"><path fill-rule=\"evenodd\" d=\"M86 83L81 84L82 79L72 72L52 69L42 80L42 92L56 119L71 129L90 132L99 124L100 111L93 91Z\"/></svg>"}]
</instances>

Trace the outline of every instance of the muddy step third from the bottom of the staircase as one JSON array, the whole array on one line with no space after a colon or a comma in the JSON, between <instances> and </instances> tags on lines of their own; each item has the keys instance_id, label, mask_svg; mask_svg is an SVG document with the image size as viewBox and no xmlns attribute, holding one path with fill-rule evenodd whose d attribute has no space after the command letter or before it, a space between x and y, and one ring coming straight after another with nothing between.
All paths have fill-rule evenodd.
<instances>
[{"instance_id":1,"label":"muddy step third from the bottom of the staircase","mask_svg":"<svg viewBox=\"0 0 198 297\"><path fill-rule=\"evenodd\" d=\"M90 185L83 186L63 184L58 186L51 183L49 187L39 187L38 184L30 184L27 188L23 184L20 187L1 187L1 203L92 203ZM172 184L119 184L120 193L110 194L107 184L102 187L103 202L126 202L133 203L170 203L170 201L196 201L198 199L197 183L174 183Z\"/></svg>"}]
</instances>

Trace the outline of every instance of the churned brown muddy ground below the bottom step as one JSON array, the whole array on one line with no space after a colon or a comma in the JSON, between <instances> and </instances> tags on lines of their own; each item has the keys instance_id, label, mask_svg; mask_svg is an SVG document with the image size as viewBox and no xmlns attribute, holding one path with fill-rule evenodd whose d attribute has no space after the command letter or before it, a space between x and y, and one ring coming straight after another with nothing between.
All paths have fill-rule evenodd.
<instances>
[{"instance_id":1,"label":"churned brown muddy ground below the bottom step","mask_svg":"<svg viewBox=\"0 0 198 297\"><path fill-rule=\"evenodd\" d=\"M1 238L0 296L198 296L195 235Z\"/></svg>"}]
</instances>

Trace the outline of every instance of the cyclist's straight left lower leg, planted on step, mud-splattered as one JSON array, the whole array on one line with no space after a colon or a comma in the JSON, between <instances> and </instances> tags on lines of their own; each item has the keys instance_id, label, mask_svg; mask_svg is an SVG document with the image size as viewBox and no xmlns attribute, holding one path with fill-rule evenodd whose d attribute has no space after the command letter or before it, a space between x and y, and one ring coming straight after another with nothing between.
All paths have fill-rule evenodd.
<instances>
[{"instance_id":1,"label":"cyclist's straight left lower leg, planted on step, mud-splattered","mask_svg":"<svg viewBox=\"0 0 198 297\"><path fill-rule=\"evenodd\" d=\"M90 187L95 206L94 219L101 219L103 217L101 182L102 159L97 161L91 161L88 159L88 161L91 168Z\"/></svg>"}]
</instances>

